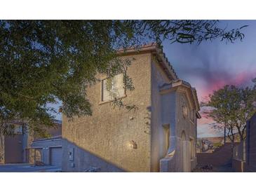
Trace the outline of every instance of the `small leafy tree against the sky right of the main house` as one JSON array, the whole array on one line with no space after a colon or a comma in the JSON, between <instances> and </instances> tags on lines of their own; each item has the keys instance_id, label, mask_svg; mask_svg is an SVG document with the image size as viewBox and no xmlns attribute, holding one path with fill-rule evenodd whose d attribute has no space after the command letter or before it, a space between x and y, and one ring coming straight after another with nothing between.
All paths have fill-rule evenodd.
<instances>
[{"instance_id":1,"label":"small leafy tree against the sky right of the main house","mask_svg":"<svg viewBox=\"0 0 256 192\"><path fill-rule=\"evenodd\" d=\"M214 128L227 129L227 137L232 143L235 142L235 134L242 142L245 139L246 121L256 112L256 87L225 85L209 97L210 100L203 106L211 107L207 117L215 121Z\"/></svg>"}]
</instances>

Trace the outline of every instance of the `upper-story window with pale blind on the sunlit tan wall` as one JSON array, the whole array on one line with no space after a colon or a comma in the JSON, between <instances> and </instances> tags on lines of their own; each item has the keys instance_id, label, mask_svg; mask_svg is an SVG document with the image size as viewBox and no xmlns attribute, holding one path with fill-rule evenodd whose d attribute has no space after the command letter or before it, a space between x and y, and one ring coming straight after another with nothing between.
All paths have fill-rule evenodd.
<instances>
[{"instance_id":1,"label":"upper-story window with pale blind on the sunlit tan wall","mask_svg":"<svg viewBox=\"0 0 256 192\"><path fill-rule=\"evenodd\" d=\"M102 80L102 102L114 100L125 96L126 91L123 85L123 74Z\"/></svg>"}]
</instances>

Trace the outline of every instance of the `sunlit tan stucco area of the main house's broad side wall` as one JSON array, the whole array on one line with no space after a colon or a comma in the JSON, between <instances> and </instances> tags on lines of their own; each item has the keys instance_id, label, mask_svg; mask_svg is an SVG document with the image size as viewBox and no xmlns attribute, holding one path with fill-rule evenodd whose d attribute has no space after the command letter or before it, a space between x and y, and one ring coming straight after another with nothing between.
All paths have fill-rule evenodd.
<instances>
[{"instance_id":1,"label":"sunlit tan stucco area of the main house's broad side wall","mask_svg":"<svg viewBox=\"0 0 256 192\"><path fill-rule=\"evenodd\" d=\"M149 172L151 54L133 55L133 58L135 60L128 68L128 75L133 79L135 90L127 91L123 102L135 104L139 109L128 112L118 107L113 109L109 103L99 104L101 84L97 82L87 90L93 116L74 118L74 121L63 116L62 138L122 170ZM136 142L137 149L130 147L132 140ZM67 169L69 165L65 153L63 161ZM79 165L74 166L77 168Z\"/></svg>"}]
</instances>

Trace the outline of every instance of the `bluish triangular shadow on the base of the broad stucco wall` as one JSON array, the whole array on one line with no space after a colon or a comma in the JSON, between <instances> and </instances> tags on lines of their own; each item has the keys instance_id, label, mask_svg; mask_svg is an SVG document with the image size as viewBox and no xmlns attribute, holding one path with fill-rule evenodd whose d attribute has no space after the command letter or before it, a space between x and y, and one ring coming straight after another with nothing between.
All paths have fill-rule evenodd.
<instances>
[{"instance_id":1,"label":"bluish triangular shadow on the base of the broad stucco wall","mask_svg":"<svg viewBox=\"0 0 256 192\"><path fill-rule=\"evenodd\" d=\"M63 172L126 172L121 167L62 139Z\"/></svg>"}]
</instances>

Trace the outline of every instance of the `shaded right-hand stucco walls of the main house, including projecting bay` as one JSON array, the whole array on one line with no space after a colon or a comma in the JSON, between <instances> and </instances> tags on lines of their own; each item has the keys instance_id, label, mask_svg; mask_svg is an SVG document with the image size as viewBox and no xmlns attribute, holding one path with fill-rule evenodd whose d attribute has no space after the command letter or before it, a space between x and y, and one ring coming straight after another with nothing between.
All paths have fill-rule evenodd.
<instances>
[{"instance_id":1,"label":"shaded right-hand stucco walls of the main house, including projecting bay","mask_svg":"<svg viewBox=\"0 0 256 192\"><path fill-rule=\"evenodd\" d=\"M158 66L157 62L151 62L151 172L182 172L184 170L189 172L196 166L196 157L191 159L189 145L190 139L193 139L194 144L196 144L196 119L192 123L189 118L190 111L194 107L189 105L188 98L190 97L192 100L192 97L186 95L187 89L182 87L161 94L159 88L164 83L168 83L168 79ZM186 118L182 112L184 104L189 109ZM194 111L194 116L195 113L196 111ZM168 153L174 154L171 157L165 157L167 154L163 146L165 139L163 125L170 126ZM184 141L182 140L182 132L185 135ZM196 151L194 151L195 153ZM161 168L160 162L163 159L165 165Z\"/></svg>"}]
</instances>

